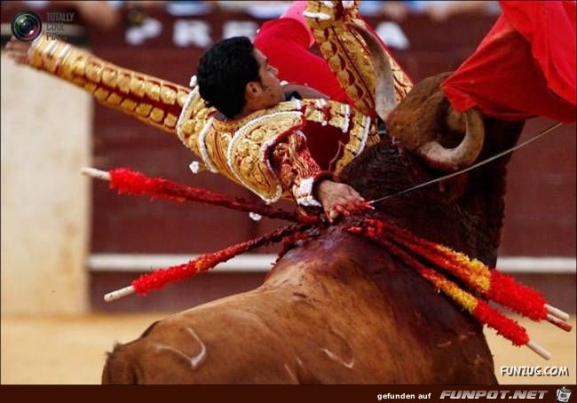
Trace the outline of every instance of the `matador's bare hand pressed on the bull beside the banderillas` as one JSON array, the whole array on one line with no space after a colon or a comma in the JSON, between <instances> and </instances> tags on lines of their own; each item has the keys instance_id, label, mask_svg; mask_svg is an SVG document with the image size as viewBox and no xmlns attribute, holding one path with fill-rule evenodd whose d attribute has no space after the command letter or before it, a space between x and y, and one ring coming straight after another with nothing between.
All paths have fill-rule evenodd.
<instances>
[{"instance_id":1,"label":"matador's bare hand pressed on the bull beside the banderillas","mask_svg":"<svg viewBox=\"0 0 577 403\"><path fill-rule=\"evenodd\" d=\"M328 221L333 222L336 217L349 217L364 209L372 209L352 186L323 180L317 187L317 198L322 203Z\"/></svg>"}]
</instances>

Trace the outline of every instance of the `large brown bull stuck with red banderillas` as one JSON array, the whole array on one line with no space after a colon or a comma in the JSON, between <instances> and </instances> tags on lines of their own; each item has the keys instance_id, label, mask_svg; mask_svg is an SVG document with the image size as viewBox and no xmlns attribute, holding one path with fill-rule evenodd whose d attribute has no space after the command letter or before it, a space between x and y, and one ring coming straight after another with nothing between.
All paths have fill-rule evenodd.
<instances>
[{"instance_id":1,"label":"large brown bull stuck with red banderillas","mask_svg":"<svg viewBox=\"0 0 577 403\"><path fill-rule=\"evenodd\" d=\"M417 85L392 111L393 136L404 141L424 128L441 146L461 141L462 132L447 129L460 123L439 91L444 77ZM423 102L436 109L416 114ZM512 146L522 129L491 119L484 125L480 158ZM418 148L408 153L385 138L356 158L343 180L372 200L439 176ZM444 192L428 186L393 197L368 214L494 265L505 164L471 171ZM345 233L355 219L316 230L261 287L179 312L117 345L102 382L495 383L481 326L386 250Z\"/></svg>"}]
</instances>

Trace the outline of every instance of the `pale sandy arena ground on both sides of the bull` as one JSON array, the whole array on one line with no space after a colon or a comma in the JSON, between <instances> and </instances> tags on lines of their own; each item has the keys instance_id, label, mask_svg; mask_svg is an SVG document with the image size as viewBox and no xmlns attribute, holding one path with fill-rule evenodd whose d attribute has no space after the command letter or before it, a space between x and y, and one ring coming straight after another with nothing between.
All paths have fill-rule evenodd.
<instances>
[{"instance_id":1,"label":"pale sandy arena ground on both sides of the bull","mask_svg":"<svg viewBox=\"0 0 577 403\"><path fill-rule=\"evenodd\" d=\"M154 320L166 316L166 313L91 314L72 318L6 315L1 323L1 383L99 383L105 352L116 341L133 340ZM487 330L499 382L575 384L575 317L571 319L571 334L548 323L520 321L532 339L546 347L553 358L542 360L529 349L513 347ZM569 376L502 376L499 374L502 366L568 367Z\"/></svg>"}]
</instances>

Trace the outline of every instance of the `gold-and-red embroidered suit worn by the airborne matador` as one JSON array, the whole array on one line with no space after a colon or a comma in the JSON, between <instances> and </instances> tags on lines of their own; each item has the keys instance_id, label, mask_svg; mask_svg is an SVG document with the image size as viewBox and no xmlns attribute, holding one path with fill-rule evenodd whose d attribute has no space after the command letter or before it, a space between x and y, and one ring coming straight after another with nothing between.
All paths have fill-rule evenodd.
<instances>
[{"instance_id":1,"label":"gold-and-red embroidered suit worn by the airborne matador","mask_svg":"<svg viewBox=\"0 0 577 403\"><path fill-rule=\"evenodd\" d=\"M208 105L201 75L187 88L45 36L30 46L27 63L89 91L107 107L176 134L198 157L194 170L220 173L267 203L287 197L318 209L315 185L336 181L347 163L380 139L375 67L359 29L379 41L391 60L390 97L398 101L412 87L360 19L358 3L295 2L280 19L266 22L254 49L278 73L287 98L241 118ZM309 50L314 41L324 59Z\"/></svg>"}]
</instances>

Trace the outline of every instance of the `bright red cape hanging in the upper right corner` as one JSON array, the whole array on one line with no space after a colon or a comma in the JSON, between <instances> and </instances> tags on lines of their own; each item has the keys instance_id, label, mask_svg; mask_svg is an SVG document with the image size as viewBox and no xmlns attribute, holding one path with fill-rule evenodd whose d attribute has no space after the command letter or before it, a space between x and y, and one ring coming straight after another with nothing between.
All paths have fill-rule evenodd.
<instances>
[{"instance_id":1,"label":"bright red cape hanging in the upper right corner","mask_svg":"<svg viewBox=\"0 0 577 403\"><path fill-rule=\"evenodd\" d=\"M502 15L441 88L462 112L478 107L507 120L575 122L573 1L501 2Z\"/></svg>"}]
</instances>

